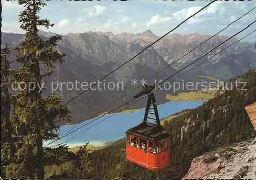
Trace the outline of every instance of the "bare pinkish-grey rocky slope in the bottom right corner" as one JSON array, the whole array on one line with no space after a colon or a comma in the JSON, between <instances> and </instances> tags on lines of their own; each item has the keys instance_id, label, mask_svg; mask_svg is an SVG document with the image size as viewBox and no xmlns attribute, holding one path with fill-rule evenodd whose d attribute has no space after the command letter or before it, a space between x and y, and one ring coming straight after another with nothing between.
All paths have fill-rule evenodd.
<instances>
[{"instance_id":1,"label":"bare pinkish-grey rocky slope in the bottom right corner","mask_svg":"<svg viewBox=\"0 0 256 180\"><path fill-rule=\"evenodd\" d=\"M182 179L256 179L256 138L192 160Z\"/></svg>"}]
</instances>

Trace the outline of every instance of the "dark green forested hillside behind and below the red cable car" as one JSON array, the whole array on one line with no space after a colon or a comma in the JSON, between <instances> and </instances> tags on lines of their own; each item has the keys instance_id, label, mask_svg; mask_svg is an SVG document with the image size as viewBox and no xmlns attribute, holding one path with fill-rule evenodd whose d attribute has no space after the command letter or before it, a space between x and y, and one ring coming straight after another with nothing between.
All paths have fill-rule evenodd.
<instances>
[{"instance_id":1,"label":"dark green forested hillside behind and below the red cable car","mask_svg":"<svg viewBox=\"0 0 256 180\"><path fill-rule=\"evenodd\" d=\"M188 171L191 158L228 144L256 136L244 106L256 101L256 69L229 80L246 82L247 90L233 89L217 92L216 97L202 106L182 113L166 122L164 128L172 136L171 164L152 172L125 160L125 142L116 143L90 153L94 171L85 178L182 178ZM244 85L238 85L242 89ZM74 174L73 174L74 175ZM73 178L76 175L72 176Z\"/></svg>"}]
</instances>

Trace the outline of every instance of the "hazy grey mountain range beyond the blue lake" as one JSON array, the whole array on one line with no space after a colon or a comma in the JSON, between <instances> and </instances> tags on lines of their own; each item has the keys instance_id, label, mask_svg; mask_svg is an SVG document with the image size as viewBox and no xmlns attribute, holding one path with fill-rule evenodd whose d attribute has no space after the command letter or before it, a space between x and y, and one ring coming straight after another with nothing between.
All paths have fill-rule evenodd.
<instances>
[{"instance_id":1,"label":"hazy grey mountain range beyond the blue lake","mask_svg":"<svg viewBox=\"0 0 256 180\"><path fill-rule=\"evenodd\" d=\"M39 31L39 34L43 38L46 38L54 35L55 33ZM202 55L228 38L227 36L217 35L184 58L181 58L174 63L178 58L198 46L209 37L210 35L200 35L197 33L184 35L173 33L167 35L165 38L146 49L132 61L126 63L120 69L116 70L104 79L103 82L105 82L106 85L108 85L109 82L113 82L115 84L114 90L110 90L108 88L100 90L99 88L103 88L104 86L98 86L97 84L95 85L97 88L96 90L88 90L88 92L84 92L71 101L68 104L71 107L73 117L71 124L91 119L102 112L108 112L122 105L124 102L132 99L133 95L142 90L141 85L139 85L140 80L146 80L166 66L172 64L170 67L154 76L151 81L147 81L147 83L152 84L155 82L154 80L164 80L177 73L187 64L200 58ZM24 34L2 33L1 48L4 43L8 44L11 50L10 59L14 60L15 52L13 48L24 40L24 38ZM104 78L108 73L112 72L124 62L140 53L141 50L158 38L160 37L153 34L150 30L138 34L119 33L114 35L112 32L86 32L68 33L67 35L63 35L62 40L56 46L56 50L61 54L66 54L64 58L65 62L57 64L57 69L53 77L45 84L47 87L46 95L50 95L52 93L63 94L63 102L69 101L83 91L80 87L82 82L87 82L86 88L88 88L91 82L97 82ZM195 65L218 53L234 41L237 41L237 39L232 38L227 41L209 55L203 57L199 62L195 63ZM180 83L182 81L185 83L212 81L210 78L207 78L207 76L227 80L233 76L245 73L248 69L255 68L255 60L255 44L238 42L175 81ZM19 64L14 63L12 66L16 69L19 67ZM185 71L189 69L190 68L187 68ZM174 75L174 77L168 81L174 80L180 74L181 73ZM135 86L131 84L131 80L134 79L138 80L137 85L139 86L136 89L134 89ZM78 82L78 88L71 89L71 86L67 85L70 84L68 82L72 82L74 86L75 82ZM61 83L63 84L63 88L57 89L57 84L60 86ZM94 83L91 83L91 85L93 84ZM117 89L117 84L119 84L119 89ZM67 89L66 85L71 90ZM55 89L53 90L51 86ZM112 86L113 85L110 84L110 88ZM200 88L201 87L199 87L199 89ZM170 90L160 90L158 93L155 93L155 96L158 103L163 103L167 101L165 99L166 93L175 95L181 91L190 90L184 88L174 92L172 87ZM125 95L125 93L127 94ZM122 95L124 95L122 98L115 101ZM113 101L115 102L111 104ZM127 109L142 108L144 106L145 101L142 100L136 102L136 104L131 105ZM122 110L123 109L121 107L115 110L115 112ZM61 122L60 125L63 124L65 124L65 122Z\"/></svg>"}]
</instances>

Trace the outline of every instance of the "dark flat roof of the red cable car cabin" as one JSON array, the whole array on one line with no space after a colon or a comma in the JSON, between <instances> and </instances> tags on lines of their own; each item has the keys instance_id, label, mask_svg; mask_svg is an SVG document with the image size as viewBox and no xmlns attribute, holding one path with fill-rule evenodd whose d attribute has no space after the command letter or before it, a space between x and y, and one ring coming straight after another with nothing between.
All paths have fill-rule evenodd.
<instances>
[{"instance_id":1,"label":"dark flat roof of the red cable car cabin","mask_svg":"<svg viewBox=\"0 0 256 180\"><path fill-rule=\"evenodd\" d=\"M135 127L129 128L126 133L150 141L161 141L170 137L162 126L158 126L150 121L142 122Z\"/></svg>"}]
</instances>

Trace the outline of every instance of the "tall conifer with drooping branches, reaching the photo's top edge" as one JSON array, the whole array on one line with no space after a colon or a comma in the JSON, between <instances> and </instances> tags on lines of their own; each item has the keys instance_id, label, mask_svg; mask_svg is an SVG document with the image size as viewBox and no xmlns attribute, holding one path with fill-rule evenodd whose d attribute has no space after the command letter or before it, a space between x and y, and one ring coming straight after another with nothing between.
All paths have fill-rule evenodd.
<instances>
[{"instance_id":1,"label":"tall conifer with drooping branches, reaching the photo's top edge","mask_svg":"<svg viewBox=\"0 0 256 180\"><path fill-rule=\"evenodd\" d=\"M58 137L57 123L61 120L70 121L70 110L61 104L61 96L43 96L46 78L53 74L57 62L63 62L65 55L54 50L61 40L55 35L46 40L38 35L38 27L52 27L47 19L41 20L38 13L46 4L41 0L19 0L19 5L26 9L19 15L20 28L26 31L25 40L15 50L18 52L16 61L19 70L13 72L13 79L19 84L15 94L15 113L11 117L15 125L15 134L22 137L17 152L17 163L9 169L23 178L44 179L43 141ZM47 73L42 74L41 68L46 67ZM34 154L34 150L37 154ZM9 172L14 174L14 172ZM19 178L20 178L19 176ZM8 177L15 178L15 177Z\"/></svg>"}]
</instances>

